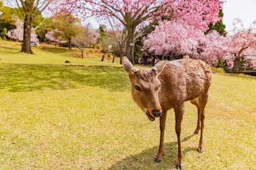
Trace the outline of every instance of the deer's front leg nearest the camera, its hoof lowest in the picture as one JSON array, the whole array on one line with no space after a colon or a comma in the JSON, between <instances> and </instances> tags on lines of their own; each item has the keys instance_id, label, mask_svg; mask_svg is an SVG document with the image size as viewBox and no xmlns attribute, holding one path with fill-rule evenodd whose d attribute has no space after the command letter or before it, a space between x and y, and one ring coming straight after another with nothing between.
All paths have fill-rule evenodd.
<instances>
[{"instance_id":1,"label":"deer's front leg nearest the camera, its hoof lowest in the picture","mask_svg":"<svg viewBox=\"0 0 256 170\"><path fill-rule=\"evenodd\" d=\"M177 162L177 169L183 169L183 152L181 150L181 122L183 120L183 113L184 113L184 103L181 104L180 106L174 107L174 112L175 112L175 132L177 134L178 138L178 162Z\"/></svg>"}]
</instances>

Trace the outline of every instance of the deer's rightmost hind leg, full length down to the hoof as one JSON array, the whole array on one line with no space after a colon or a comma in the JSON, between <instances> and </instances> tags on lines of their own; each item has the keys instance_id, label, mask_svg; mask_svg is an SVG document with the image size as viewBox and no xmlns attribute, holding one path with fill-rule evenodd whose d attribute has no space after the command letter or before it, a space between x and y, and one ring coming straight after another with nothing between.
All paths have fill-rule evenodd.
<instances>
[{"instance_id":1,"label":"deer's rightmost hind leg, full length down to the hoof","mask_svg":"<svg viewBox=\"0 0 256 170\"><path fill-rule=\"evenodd\" d=\"M199 109L200 109L200 119L201 119L201 134L200 134L200 140L199 140L199 148L197 149L197 151L199 151L200 153L203 152L203 130L204 130L204 116L205 116L204 108L206 107L207 101L208 101L208 93L202 94L198 98Z\"/></svg>"}]
</instances>

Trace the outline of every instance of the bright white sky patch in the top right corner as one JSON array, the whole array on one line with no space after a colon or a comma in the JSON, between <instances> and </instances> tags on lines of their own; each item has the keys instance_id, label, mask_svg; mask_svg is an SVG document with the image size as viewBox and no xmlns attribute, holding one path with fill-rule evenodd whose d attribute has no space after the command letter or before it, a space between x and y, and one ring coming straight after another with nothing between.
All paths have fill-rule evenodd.
<instances>
[{"instance_id":1,"label":"bright white sky patch in the top right corner","mask_svg":"<svg viewBox=\"0 0 256 170\"><path fill-rule=\"evenodd\" d=\"M233 20L241 18L245 28L256 20L256 0L226 0L223 4L223 23L226 31L233 29Z\"/></svg>"}]
</instances>

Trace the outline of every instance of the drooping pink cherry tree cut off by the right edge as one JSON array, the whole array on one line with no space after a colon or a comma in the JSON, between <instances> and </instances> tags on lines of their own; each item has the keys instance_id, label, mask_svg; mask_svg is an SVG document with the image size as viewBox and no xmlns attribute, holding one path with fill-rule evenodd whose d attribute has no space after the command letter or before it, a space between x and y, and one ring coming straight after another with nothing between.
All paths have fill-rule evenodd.
<instances>
[{"instance_id":1,"label":"drooping pink cherry tree cut off by the right edge","mask_svg":"<svg viewBox=\"0 0 256 170\"><path fill-rule=\"evenodd\" d=\"M232 68L232 73L238 73L239 66L251 67L256 70L256 21L251 27L244 28L241 19L233 23L233 35L229 36L226 63Z\"/></svg>"}]
</instances>

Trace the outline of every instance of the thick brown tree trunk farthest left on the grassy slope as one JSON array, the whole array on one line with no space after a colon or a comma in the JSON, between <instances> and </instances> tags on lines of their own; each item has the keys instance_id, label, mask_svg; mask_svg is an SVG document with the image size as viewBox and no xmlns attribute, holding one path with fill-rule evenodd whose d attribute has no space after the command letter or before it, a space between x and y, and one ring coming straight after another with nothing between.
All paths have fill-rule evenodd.
<instances>
[{"instance_id":1,"label":"thick brown tree trunk farthest left on the grassy slope","mask_svg":"<svg viewBox=\"0 0 256 170\"><path fill-rule=\"evenodd\" d=\"M32 18L31 15L25 13L24 19L24 29L23 29L23 43L21 47L21 52L27 54L34 54L31 49L31 22Z\"/></svg>"}]
</instances>

